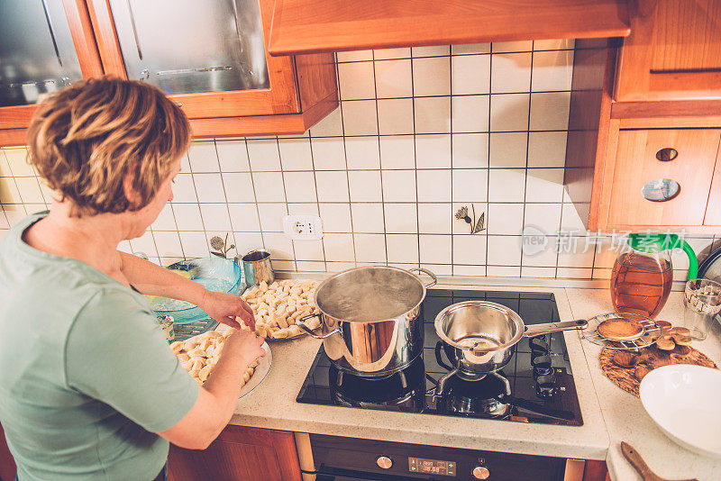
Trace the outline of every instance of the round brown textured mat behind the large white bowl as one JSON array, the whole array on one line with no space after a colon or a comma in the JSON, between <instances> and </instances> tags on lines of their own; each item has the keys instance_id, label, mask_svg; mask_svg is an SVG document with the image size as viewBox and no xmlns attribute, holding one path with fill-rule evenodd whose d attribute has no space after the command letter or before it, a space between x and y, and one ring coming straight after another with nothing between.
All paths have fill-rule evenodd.
<instances>
[{"instance_id":1,"label":"round brown textured mat behind the large white bowl","mask_svg":"<svg viewBox=\"0 0 721 481\"><path fill-rule=\"evenodd\" d=\"M603 373L614 383L627 393L638 397L638 386L641 385L641 381L635 377L634 368L622 368L614 362L614 356L616 356L616 349L604 348L601 350L601 355L598 360L601 363L601 370ZM669 364L691 364L695 366L704 366L706 368L718 368L716 363L711 359L707 358L698 349L689 347L689 354L683 357L671 356L674 351L665 351L651 346L646 349L641 349L640 354L647 354L651 358L650 363L656 362L661 365ZM649 366L651 368L651 366Z\"/></svg>"}]
</instances>

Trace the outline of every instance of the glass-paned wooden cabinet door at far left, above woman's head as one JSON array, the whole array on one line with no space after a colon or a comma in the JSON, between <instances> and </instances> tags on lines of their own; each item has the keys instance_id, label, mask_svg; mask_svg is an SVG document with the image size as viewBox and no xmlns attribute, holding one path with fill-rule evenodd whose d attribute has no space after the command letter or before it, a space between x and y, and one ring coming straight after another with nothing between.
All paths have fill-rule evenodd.
<instances>
[{"instance_id":1,"label":"glass-paned wooden cabinet door at far left, above woman's head","mask_svg":"<svg viewBox=\"0 0 721 481\"><path fill-rule=\"evenodd\" d=\"M0 66L0 129L26 127L43 94L102 75L85 3L0 2Z\"/></svg>"}]
</instances>

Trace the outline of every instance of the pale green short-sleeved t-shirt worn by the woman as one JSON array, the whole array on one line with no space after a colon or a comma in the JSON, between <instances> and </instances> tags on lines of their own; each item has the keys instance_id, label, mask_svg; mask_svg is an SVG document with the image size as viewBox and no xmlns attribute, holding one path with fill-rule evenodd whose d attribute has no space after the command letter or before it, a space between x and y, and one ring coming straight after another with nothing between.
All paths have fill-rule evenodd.
<instances>
[{"instance_id":1,"label":"pale green short-sleeved t-shirt worn by the woman","mask_svg":"<svg viewBox=\"0 0 721 481\"><path fill-rule=\"evenodd\" d=\"M198 386L155 315L77 259L0 239L0 422L26 479L152 479Z\"/></svg>"}]
</instances>

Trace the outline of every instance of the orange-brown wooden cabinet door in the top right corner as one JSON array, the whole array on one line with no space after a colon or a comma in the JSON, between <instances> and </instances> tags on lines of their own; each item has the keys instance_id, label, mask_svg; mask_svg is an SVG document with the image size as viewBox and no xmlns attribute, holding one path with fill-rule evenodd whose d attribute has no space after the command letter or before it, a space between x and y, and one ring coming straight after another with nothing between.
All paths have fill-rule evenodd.
<instances>
[{"instance_id":1,"label":"orange-brown wooden cabinet door in the top right corner","mask_svg":"<svg viewBox=\"0 0 721 481\"><path fill-rule=\"evenodd\" d=\"M721 2L638 0L621 48L617 101L721 98Z\"/></svg>"}]
</instances>

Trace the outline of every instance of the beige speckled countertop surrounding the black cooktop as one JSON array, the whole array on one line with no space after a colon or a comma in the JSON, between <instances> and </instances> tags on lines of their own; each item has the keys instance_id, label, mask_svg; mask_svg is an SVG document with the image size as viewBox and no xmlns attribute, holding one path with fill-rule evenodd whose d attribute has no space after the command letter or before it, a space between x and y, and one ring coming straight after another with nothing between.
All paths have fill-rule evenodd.
<instances>
[{"instance_id":1,"label":"beige speckled countertop surrounding the black cooktop","mask_svg":"<svg viewBox=\"0 0 721 481\"><path fill-rule=\"evenodd\" d=\"M552 292L561 321L613 311L607 289L443 285L437 288ZM680 323L681 294L671 297L659 319ZM296 396L320 347L320 340L271 341L273 366L251 395L238 401L231 423L284 431L331 434L371 440L465 449L516 452L563 458L606 460L614 480L641 479L623 458L619 443L629 442L659 475L669 478L721 477L721 460L680 448L660 431L638 398L613 385L598 365L600 347L563 333L579 395L582 426L525 424L463 419L432 414L392 413L341 406L300 404ZM694 346L721 361L721 330ZM697 345L698 344L698 345Z\"/></svg>"}]
</instances>

